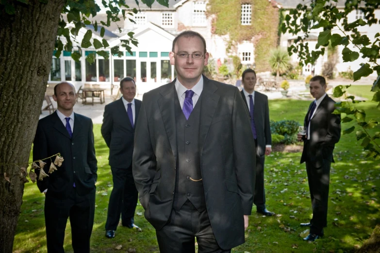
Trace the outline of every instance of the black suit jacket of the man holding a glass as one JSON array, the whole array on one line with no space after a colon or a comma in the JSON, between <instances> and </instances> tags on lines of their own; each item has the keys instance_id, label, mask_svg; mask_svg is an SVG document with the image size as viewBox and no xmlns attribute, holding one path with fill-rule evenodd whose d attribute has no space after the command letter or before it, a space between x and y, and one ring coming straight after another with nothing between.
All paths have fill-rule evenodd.
<instances>
[{"instance_id":1,"label":"black suit jacket of the man holding a glass","mask_svg":"<svg viewBox=\"0 0 380 253\"><path fill-rule=\"evenodd\" d=\"M305 129L313 103L314 101L310 104L304 119ZM310 120L310 140L308 145L303 147L301 163L311 162L315 168L320 168L324 159L334 162L332 152L335 143L340 139L341 132L340 115L333 114L334 110L335 101L326 95Z\"/></svg>"}]
</instances>

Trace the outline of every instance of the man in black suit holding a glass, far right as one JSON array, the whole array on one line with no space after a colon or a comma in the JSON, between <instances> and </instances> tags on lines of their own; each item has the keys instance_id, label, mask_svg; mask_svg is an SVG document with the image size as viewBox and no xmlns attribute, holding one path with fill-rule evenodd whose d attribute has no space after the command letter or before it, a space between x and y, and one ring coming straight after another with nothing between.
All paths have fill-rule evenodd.
<instances>
[{"instance_id":1,"label":"man in black suit holding a glass, far right","mask_svg":"<svg viewBox=\"0 0 380 253\"><path fill-rule=\"evenodd\" d=\"M306 162L306 171L313 207L313 219L301 226L310 226L310 234L304 238L314 241L323 236L327 226L327 204L329 200L330 166L334 162L332 152L340 139L340 115L333 114L335 101L326 94L326 80L314 76L310 80L310 93L315 98L306 114L306 135L298 133L304 141L301 163Z\"/></svg>"}]
</instances>

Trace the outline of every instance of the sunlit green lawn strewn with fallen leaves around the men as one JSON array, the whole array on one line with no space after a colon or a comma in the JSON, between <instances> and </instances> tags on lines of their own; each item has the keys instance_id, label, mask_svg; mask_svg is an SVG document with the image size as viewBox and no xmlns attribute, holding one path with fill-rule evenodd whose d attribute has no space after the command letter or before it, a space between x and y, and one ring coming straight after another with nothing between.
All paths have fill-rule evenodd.
<instances>
[{"instance_id":1,"label":"sunlit green lawn strewn with fallen leaves around the men","mask_svg":"<svg viewBox=\"0 0 380 253\"><path fill-rule=\"evenodd\" d=\"M293 119L302 123L310 101L269 101L272 120ZM379 118L376 103L358 104L367 118ZM353 121L342 129L354 125ZM371 129L371 133L380 131ZM159 252L153 227L144 219L143 208L137 206L135 223L143 232L118 227L116 237L104 236L108 200L112 190L108 148L100 135L100 125L94 126L98 158L98 182L94 230L91 237L93 253ZM233 253L309 253L354 252L380 223L379 187L380 162L364 159L364 152L354 133L342 135L334 151L335 164L331 166L328 227L325 237L314 243L302 241L299 233L305 228L300 222L311 218L312 208L304 164L299 164L300 153L273 152L265 160L266 204L270 211L281 216L261 217L253 207L246 232L246 243ZM103 195L104 194L104 195ZM105 195L107 194L107 195ZM44 195L32 183L25 185L21 214L17 225L14 253L46 253L44 223ZM336 219L336 220L335 220ZM65 250L72 253L69 222L66 227ZM120 251L115 250L122 245Z\"/></svg>"}]
</instances>

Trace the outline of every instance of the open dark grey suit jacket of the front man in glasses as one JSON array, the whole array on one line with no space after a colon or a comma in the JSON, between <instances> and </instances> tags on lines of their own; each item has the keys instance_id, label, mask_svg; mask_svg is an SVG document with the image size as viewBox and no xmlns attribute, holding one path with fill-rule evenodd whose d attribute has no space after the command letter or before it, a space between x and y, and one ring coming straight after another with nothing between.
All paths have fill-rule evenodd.
<instances>
[{"instance_id":1,"label":"open dark grey suit jacket of the front man in glasses","mask_svg":"<svg viewBox=\"0 0 380 253\"><path fill-rule=\"evenodd\" d=\"M203 76L199 155L207 212L222 249L244 243L243 214L250 215L255 145L239 90ZM133 176L145 217L156 228L173 206L177 137L175 81L144 94L133 152Z\"/></svg>"}]
</instances>

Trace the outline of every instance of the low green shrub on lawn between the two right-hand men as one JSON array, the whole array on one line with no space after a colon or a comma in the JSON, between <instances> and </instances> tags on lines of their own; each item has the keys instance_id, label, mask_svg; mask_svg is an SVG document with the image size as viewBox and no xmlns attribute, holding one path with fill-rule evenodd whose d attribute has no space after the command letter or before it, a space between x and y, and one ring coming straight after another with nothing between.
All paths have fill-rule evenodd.
<instances>
[{"instance_id":1,"label":"low green shrub on lawn between the two right-hand men","mask_svg":"<svg viewBox=\"0 0 380 253\"><path fill-rule=\"evenodd\" d=\"M270 121L270 131L273 135L283 135L281 143L293 144L297 142L298 127L300 124L295 120Z\"/></svg>"}]
</instances>

